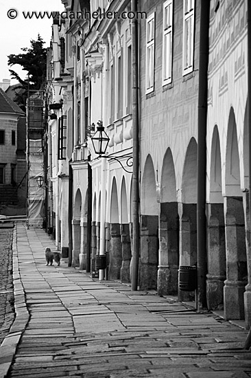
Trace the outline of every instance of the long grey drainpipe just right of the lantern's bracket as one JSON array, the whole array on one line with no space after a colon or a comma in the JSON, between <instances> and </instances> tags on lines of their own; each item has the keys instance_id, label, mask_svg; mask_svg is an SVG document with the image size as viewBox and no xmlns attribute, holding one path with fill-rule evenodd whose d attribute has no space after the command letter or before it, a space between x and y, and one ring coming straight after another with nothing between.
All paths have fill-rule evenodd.
<instances>
[{"instance_id":1,"label":"long grey drainpipe just right of the lantern's bracket","mask_svg":"<svg viewBox=\"0 0 251 378\"><path fill-rule=\"evenodd\" d=\"M132 12L136 14L137 0L132 0ZM132 290L138 289L139 271L139 78L138 71L138 23L132 19Z\"/></svg>"}]
</instances>

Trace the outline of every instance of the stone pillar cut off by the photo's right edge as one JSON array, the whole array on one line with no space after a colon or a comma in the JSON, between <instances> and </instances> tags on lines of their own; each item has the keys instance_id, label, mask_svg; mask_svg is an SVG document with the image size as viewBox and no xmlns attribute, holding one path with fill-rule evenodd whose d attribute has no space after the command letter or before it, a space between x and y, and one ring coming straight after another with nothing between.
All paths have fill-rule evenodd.
<instances>
[{"instance_id":1,"label":"stone pillar cut off by the photo's right edge","mask_svg":"<svg viewBox=\"0 0 251 378\"><path fill-rule=\"evenodd\" d=\"M243 208L245 216L245 230L246 230L246 251L247 251L247 267L248 267L248 285L246 285L244 293L244 311L246 328L251 326L251 249L250 249L250 204L249 192L243 192Z\"/></svg>"}]
</instances>

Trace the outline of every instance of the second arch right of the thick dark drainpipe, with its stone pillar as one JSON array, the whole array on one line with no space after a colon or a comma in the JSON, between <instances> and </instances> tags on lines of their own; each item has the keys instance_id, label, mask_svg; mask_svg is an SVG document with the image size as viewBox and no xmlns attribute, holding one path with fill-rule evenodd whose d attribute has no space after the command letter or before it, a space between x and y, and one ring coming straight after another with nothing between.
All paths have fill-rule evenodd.
<instances>
[{"instance_id":1,"label":"second arch right of the thick dark drainpipe, with its stone pillar","mask_svg":"<svg viewBox=\"0 0 251 378\"><path fill-rule=\"evenodd\" d=\"M246 230L241 191L240 160L235 111L230 109L226 142L226 197L224 198L226 235L226 281L224 314L226 319L244 319L244 291L247 284Z\"/></svg>"}]
</instances>

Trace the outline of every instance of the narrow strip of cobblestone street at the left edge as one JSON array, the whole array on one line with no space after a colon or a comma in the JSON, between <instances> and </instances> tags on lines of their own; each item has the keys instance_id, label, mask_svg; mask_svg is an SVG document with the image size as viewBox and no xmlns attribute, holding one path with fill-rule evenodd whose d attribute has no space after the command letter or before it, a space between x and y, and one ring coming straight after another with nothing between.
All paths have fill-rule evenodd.
<instances>
[{"instance_id":1,"label":"narrow strip of cobblestone street at the left edge","mask_svg":"<svg viewBox=\"0 0 251 378\"><path fill-rule=\"evenodd\" d=\"M0 344L14 321L12 228L0 228Z\"/></svg>"}]
</instances>

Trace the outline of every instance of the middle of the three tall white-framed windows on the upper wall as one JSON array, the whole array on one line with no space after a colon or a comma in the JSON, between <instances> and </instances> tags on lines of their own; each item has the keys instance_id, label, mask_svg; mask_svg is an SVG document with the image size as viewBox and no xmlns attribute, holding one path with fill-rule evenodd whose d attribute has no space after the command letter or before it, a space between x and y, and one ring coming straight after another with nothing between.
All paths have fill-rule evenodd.
<instances>
[{"instance_id":1,"label":"middle of the three tall white-framed windows on the upper wall","mask_svg":"<svg viewBox=\"0 0 251 378\"><path fill-rule=\"evenodd\" d=\"M163 5L163 85L171 82L173 54L173 0Z\"/></svg>"}]
</instances>

